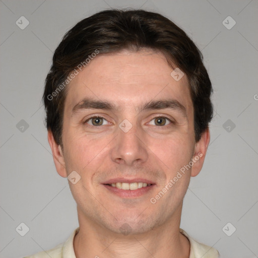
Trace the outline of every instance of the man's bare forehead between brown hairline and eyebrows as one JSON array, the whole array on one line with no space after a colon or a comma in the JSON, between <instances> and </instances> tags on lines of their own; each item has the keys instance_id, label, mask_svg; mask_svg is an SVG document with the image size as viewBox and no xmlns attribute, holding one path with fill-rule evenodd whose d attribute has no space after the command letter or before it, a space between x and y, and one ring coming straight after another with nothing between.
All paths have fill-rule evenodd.
<instances>
[{"instance_id":1,"label":"man's bare forehead between brown hairline and eyebrows","mask_svg":"<svg viewBox=\"0 0 258 258\"><path fill-rule=\"evenodd\" d=\"M188 80L184 75L176 81L172 71L163 54L150 50L98 55L69 84L65 111L85 97L104 99L121 110L173 98L191 110Z\"/></svg>"}]
</instances>

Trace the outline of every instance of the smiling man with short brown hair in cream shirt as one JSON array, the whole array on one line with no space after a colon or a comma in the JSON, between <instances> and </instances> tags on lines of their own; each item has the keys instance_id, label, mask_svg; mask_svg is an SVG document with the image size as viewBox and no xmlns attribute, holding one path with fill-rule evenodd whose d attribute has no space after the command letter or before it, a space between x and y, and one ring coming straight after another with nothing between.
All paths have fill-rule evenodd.
<instances>
[{"instance_id":1,"label":"smiling man with short brown hair in cream shirt","mask_svg":"<svg viewBox=\"0 0 258 258\"><path fill-rule=\"evenodd\" d=\"M202 54L159 14L107 10L73 27L43 100L80 227L29 257L218 257L179 227L210 141L211 93Z\"/></svg>"}]
</instances>

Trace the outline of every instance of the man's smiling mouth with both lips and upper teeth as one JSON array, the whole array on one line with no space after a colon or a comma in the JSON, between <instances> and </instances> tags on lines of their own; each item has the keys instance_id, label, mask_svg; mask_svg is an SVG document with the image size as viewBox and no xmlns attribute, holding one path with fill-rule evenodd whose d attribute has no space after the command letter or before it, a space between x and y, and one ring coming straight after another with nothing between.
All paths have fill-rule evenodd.
<instances>
[{"instance_id":1,"label":"man's smiling mouth with both lips and upper teeth","mask_svg":"<svg viewBox=\"0 0 258 258\"><path fill-rule=\"evenodd\" d=\"M106 189L121 198L138 198L146 195L156 185L146 179L116 178L102 183Z\"/></svg>"}]
</instances>

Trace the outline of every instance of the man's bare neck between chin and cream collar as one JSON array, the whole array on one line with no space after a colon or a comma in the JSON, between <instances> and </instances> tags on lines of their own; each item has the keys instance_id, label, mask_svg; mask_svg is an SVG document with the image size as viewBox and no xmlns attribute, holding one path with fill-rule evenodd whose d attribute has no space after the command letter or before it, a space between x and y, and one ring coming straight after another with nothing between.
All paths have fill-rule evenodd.
<instances>
[{"instance_id":1,"label":"man's bare neck between chin and cream collar","mask_svg":"<svg viewBox=\"0 0 258 258\"><path fill-rule=\"evenodd\" d=\"M170 221L141 234L114 233L86 218L78 208L80 230L74 239L77 258L188 258L190 244L179 232L182 206Z\"/></svg>"}]
</instances>

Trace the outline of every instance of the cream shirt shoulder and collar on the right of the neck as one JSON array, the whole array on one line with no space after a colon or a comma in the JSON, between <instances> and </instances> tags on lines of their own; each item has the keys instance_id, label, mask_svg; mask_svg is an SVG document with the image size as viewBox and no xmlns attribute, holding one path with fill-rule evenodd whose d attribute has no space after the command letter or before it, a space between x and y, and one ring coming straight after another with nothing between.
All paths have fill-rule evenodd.
<instances>
[{"instance_id":1,"label":"cream shirt shoulder and collar on the right of the neck","mask_svg":"<svg viewBox=\"0 0 258 258\"><path fill-rule=\"evenodd\" d=\"M197 242L191 238L183 229L180 228L180 233L185 235L190 242L189 258L219 258L219 252L215 248L203 243Z\"/></svg>"}]
</instances>

